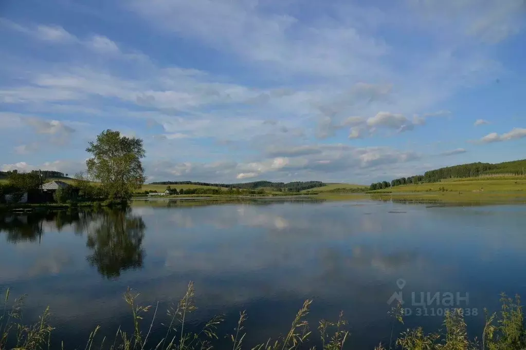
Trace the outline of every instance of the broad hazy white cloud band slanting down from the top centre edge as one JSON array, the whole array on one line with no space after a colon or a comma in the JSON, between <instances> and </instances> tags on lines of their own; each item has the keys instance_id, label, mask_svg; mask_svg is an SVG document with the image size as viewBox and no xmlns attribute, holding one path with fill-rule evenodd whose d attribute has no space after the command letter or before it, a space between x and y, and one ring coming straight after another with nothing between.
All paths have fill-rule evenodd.
<instances>
[{"instance_id":1,"label":"broad hazy white cloud band slanting down from the top centre edge","mask_svg":"<svg viewBox=\"0 0 526 350\"><path fill-rule=\"evenodd\" d=\"M149 4L131 1L128 5L152 25L174 35L296 72L325 76L363 73L361 69L369 60L378 59L388 50L383 41L335 20L327 18L326 25L309 26L289 14L267 13L262 6L248 1L157 0ZM353 19L360 17L355 15ZM295 38L309 40L305 43Z\"/></svg>"}]
</instances>

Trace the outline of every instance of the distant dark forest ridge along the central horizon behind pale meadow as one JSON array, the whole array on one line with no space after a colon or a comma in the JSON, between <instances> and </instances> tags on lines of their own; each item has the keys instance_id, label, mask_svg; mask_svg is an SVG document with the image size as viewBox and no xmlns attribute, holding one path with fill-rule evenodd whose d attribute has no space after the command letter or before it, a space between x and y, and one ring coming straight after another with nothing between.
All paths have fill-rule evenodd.
<instances>
[{"instance_id":1,"label":"distant dark forest ridge along the central horizon behind pale meadow","mask_svg":"<svg viewBox=\"0 0 526 350\"><path fill-rule=\"evenodd\" d=\"M254 181L240 184L211 184L207 182L193 182L193 181L161 181L153 182L151 185L200 185L200 186L213 186L213 187L226 187L226 188L239 188L239 189L258 189L258 188L271 188L272 190L278 190L282 192L298 192L303 189L310 189L325 186L321 181L295 181L289 183L283 182L270 182L270 181Z\"/></svg>"}]
</instances>

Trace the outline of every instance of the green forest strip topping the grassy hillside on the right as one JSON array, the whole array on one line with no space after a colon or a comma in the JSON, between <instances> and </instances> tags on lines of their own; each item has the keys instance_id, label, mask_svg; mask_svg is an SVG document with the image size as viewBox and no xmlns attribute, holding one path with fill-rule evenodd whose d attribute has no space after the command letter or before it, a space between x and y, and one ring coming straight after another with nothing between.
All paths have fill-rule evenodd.
<instances>
[{"instance_id":1,"label":"green forest strip topping the grassy hillside on the right","mask_svg":"<svg viewBox=\"0 0 526 350\"><path fill-rule=\"evenodd\" d=\"M400 177L391 182L382 181L373 183L371 190L394 187L406 184L419 184L437 182L447 178L479 177L479 176L512 176L526 175L526 160L491 163L469 163L462 165L447 166L444 168L430 170L423 175Z\"/></svg>"}]
</instances>

